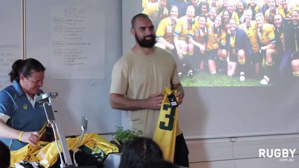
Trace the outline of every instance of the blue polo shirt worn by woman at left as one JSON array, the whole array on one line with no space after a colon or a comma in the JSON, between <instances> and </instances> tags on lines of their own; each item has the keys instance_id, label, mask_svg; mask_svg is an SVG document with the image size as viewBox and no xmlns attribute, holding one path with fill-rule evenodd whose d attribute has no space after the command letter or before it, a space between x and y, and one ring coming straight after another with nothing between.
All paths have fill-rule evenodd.
<instances>
[{"instance_id":1,"label":"blue polo shirt worn by woman at left","mask_svg":"<svg viewBox=\"0 0 299 168\"><path fill-rule=\"evenodd\" d=\"M40 93L43 91L39 90L37 95ZM33 107L17 81L0 91L0 113L10 117L6 122L9 127L24 132L39 131L47 121L43 106L36 102ZM10 146L11 151L28 144L1 137L0 141Z\"/></svg>"}]
</instances>

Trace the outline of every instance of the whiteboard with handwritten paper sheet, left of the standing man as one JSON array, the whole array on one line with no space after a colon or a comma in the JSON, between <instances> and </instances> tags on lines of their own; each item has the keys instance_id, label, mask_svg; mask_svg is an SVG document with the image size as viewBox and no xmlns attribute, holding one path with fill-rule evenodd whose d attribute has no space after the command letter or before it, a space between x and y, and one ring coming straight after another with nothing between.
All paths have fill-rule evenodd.
<instances>
[{"instance_id":1,"label":"whiteboard with handwritten paper sheet, left of the standing man","mask_svg":"<svg viewBox=\"0 0 299 168\"><path fill-rule=\"evenodd\" d=\"M111 8L115 12L111 12ZM58 111L56 118L62 121L65 135L81 133L83 115L88 118L88 132L110 133L115 130L115 125L120 125L121 113L109 104L111 71L114 62L121 56L120 11L120 1L116 0L26 0L26 57L35 58L46 67L42 89L58 92L53 108ZM76 21L70 16L75 16ZM79 26L57 24L62 19L63 23L71 22L73 25L76 22ZM55 31L61 31L60 28L83 29L82 32L71 32L70 36L62 35L83 40L59 39ZM68 44L77 42L85 43L87 47ZM91 64L64 67L56 56L59 52L67 52L66 49L82 52L80 57L88 57ZM98 76L99 73L102 75Z\"/></svg>"}]
</instances>

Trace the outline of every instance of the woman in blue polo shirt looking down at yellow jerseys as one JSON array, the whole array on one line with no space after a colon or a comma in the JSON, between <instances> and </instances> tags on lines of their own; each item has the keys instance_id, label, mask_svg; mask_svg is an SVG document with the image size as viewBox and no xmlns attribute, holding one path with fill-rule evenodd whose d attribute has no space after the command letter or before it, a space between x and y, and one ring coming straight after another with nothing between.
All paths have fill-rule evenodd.
<instances>
[{"instance_id":1,"label":"woman in blue polo shirt looking down at yellow jerseys","mask_svg":"<svg viewBox=\"0 0 299 168\"><path fill-rule=\"evenodd\" d=\"M9 73L10 86L0 91L0 141L11 151L35 146L46 115L36 98L43 91L44 66L35 59L17 60Z\"/></svg>"}]
</instances>

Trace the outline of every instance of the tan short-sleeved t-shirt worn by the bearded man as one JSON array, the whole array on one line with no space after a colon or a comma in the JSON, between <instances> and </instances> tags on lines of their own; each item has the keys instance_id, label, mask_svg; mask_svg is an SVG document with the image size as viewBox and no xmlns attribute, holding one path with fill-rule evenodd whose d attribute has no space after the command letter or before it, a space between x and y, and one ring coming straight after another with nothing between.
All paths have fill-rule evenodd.
<instances>
[{"instance_id":1,"label":"tan short-sleeved t-shirt worn by the bearded man","mask_svg":"<svg viewBox=\"0 0 299 168\"><path fill-rule=\"evenodd\" d=\"M162 93L164 87L179 84L177 67L172 55L155 47L150 55L138 55L132 50L121 57L112 70L110 93L124 94L131 99L145 99ZM152 138L159 110L143 109L129 111L130 128L143 131ZM178 134L181 131L178 129Z\"/></svg>"}]
</instances>

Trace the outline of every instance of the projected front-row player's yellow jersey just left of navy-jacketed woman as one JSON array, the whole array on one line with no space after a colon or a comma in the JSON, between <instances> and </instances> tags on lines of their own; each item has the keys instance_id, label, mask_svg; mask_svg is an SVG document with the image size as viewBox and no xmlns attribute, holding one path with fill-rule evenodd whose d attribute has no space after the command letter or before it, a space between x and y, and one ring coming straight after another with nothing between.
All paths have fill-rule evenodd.
<instances>
[{"instance_id":1,"label":"projected front-row player's yellow jersey just left of navy-jacketed woman","mask_svg":"<svg viewBox=\"0 0 299 168\"><path fill-rule=\"evenodd\" d=\"M207 51L219 49L220 45L226 45L226 32L222 29L219 29L218 32L215 32L214 26L208 28L208 41L207 41ZM218 46L217 46L217 45Z\"/></svg>"}]
</instances>

